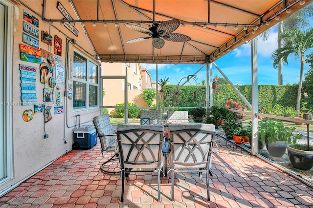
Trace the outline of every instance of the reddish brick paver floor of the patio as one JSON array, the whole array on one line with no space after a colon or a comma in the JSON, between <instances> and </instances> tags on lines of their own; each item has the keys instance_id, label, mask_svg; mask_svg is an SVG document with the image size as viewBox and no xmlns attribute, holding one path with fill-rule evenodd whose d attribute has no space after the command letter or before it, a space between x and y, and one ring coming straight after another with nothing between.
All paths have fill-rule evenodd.
<instances>
[{"instance_id":1,"label":"reddish brick paver floor of the patio","mask_svg":"<svg viewBox=\"0 0 313 208\"><path fill-rule=\"evenodd\" d=\"M72 150L0 198L0 208L313 208L313 188L239 148L217 139L213 153L210 198L205 174L161 177L157 202L156 173L131 174L120 202L120 176L103 173L100 143ZM105 156L109 158L112 153ZM118 163L118 161L116 161ZM118 164L115 164L118 166Z\"/></svg>"}]
</instances>

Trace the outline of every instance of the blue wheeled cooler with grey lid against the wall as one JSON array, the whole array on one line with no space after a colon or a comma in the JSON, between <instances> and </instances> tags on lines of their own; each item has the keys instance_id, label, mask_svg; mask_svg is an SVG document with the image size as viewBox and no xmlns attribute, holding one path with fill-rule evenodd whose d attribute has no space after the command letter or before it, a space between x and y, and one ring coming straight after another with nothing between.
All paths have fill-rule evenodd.
<instances>
[{"instance_id":1,"label":"blue wheeled cooler with grey lid against the wall","mask_svg":"<svg viewBox=\"0 0 313 208\"><path fill-rule=\"evenodd\" d=\"M74 128L74 143L77 143L80 149L90 149L97 144L96 134L94 125L76 127Z\"/></svg>"}]
</instances>

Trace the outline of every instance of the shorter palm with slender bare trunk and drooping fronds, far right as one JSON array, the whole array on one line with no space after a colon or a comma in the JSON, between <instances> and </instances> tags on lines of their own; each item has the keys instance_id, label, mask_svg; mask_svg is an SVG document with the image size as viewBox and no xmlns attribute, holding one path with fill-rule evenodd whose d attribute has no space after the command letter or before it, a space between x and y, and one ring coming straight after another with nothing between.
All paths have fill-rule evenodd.
<instances>
[{"instance_id":1,"label":"shorter palm with slender bare trunk and drooping fronds, far right","mask_svg":"<svg viewBox=\"0 0 313 208\"><path fill-rule=\"evenodd\" d=\"M274 68L277 68L280 60L282 60L284 64L288 65L288 56L292 53L294 54L295 59L300 58L300 78L296 104L296 110L299 111L301 102L303 66L305 63L304 54L313 47L313 28L310 28L308 31L293 30L284 32L281 33L280 36L284 40L284 44L283 47L277 48L272 53L271 58L273 59L273 66Z\"/></svg>"}]
</instances>

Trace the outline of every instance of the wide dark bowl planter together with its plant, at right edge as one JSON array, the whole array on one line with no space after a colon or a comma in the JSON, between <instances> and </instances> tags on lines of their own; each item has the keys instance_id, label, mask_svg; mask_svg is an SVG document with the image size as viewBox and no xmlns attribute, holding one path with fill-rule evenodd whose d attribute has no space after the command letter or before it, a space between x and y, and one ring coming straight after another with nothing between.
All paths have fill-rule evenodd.
<instances>
[{"instance_id":1,"label":"wide dark bowl planter together with its plant, at right edge","mask_svg":"<svg viewBox=\"0 0 313 208\"><path fill-rule=\"evenodd\" d=\"M303 118L312 120L312 114L305 113ZM303 136L302 134L298 134L293 138L292 144L287 146L288 156L292 166L300 170L310 170L313 167L313 146L310 146L309 125L307 126L307 145L296 144Z\"/></svg>"}]
</instances>

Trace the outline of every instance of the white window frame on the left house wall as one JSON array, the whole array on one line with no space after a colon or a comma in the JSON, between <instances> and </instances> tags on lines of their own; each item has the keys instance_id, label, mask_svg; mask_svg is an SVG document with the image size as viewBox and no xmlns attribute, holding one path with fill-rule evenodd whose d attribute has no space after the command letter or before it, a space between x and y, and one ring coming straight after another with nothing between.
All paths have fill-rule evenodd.
<instances>
[{"instance_id":1,"label":"white window frame on the left house wall","mask_svg":"<svg viewBox=\"0 0 313 208\"><path fill-rule=\"evenodd\" d=\"M100 72L100 65L99 63L95 62L94 60L90 59L88 56L84 55L83 53L80 53L77 50L74 50L74 52L82 57L84 57L86 59L87 62L87 66L86 66L86 80L82 80L82 79L78 79L73 77L73 83L74 82L79 82L79 83L84 83L86 84L86 106L85 107L74 107L73 104L73 111L79 111L79 110L87 110L87 109L92 109L92 108L98 108L99 107L99 103L100 103L100 97L99 97L99 81L100 81L100 76L99 76L99 72ZM74 57L74 54L73 54ZM93 64L95 64L96 66L98 66L98 70L97 70L97 83L91 83L89 81L89 62L92 62ZM75 70L75 69L74 69ZM97 87L97 105L92 105L89 106L89 86L96 86ZM74 94L74 89L73 89L73 94ZM73 99L74 102L74 99Z\"/></svg>"}]
</instances>

